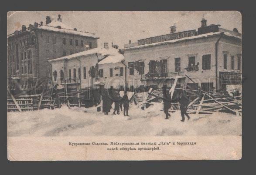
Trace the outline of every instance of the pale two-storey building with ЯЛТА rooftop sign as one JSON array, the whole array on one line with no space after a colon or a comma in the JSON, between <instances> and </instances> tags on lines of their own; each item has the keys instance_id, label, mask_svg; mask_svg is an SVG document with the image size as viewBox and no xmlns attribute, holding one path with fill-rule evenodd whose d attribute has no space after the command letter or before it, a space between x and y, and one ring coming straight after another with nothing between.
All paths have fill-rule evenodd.
<instances>
[{"instance_id":1,"label":"pale two-storey building with \u042f\u041b\u0422\u0410 rooftop sign","mask_svg":"<svg viewBox=\"0 0 256 175\"><path fill-rule=\"evenodd\" d=\"M227 85L241 85L242 41L241 33L206 25L201 21L198 30L176 32L171 26L167 35L154 36L129 42L124 48L124 59L128 66L127 86L129 89L153 86L169 87L180 77L191 89L198 86L205 91L226 89Z\"/></svg>"}]
</instances>

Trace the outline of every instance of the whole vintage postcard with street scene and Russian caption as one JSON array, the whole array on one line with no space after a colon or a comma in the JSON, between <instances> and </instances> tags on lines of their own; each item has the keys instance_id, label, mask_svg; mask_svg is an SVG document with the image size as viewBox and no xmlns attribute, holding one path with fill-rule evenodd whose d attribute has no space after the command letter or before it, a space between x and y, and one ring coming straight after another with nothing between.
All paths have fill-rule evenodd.
<instances>
[{"instance_id":1,"label":"whole vintage postcard with street scene and Russian caption","mask_svg":"<svg viewBox=\"0 0 256 175\"><path fill-rule=\"evenodd\" d=\"M242 158L238 11L10 11L10 161Z\"/></svg>"}]
</instances>

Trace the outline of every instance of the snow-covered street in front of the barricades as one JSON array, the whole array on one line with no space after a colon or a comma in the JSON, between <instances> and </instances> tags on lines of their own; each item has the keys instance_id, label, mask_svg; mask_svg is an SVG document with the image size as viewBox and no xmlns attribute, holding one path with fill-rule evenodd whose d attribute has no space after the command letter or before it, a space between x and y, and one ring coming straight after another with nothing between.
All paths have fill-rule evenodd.
<instances>
[{"instance_id":1,"label":"snow-covered street in front of the barricades","mask_svg":"<svg viewBox=\"0 0 256 175\"><path fill-rule=\"evenodd\" d=\"M142 110L130 105L130 117L109 115L89 109L43 109L28 112L8 112L9 136L157 136L157 135L242 135L242 117L190 114L181 122L180 112L164 119L161 103Z\"/></svg>"}]
</instances>

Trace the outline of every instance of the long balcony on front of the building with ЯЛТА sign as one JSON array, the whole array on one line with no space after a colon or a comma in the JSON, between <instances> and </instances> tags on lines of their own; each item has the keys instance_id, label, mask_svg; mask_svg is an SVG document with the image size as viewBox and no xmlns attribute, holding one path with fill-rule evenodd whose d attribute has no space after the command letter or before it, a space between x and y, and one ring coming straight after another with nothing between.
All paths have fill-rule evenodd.
<instances>
[{"instance_id":1,"label":"long balcony on front of the building with \u042f\u041b\u0422\u0410 sign","mask_svg":"<svg viewBox=\"0 0 256 175\"><path fill-rule=\"evenodd\" d=\"M147 73L141 75L141 79L173 79L176 76L184 76L183 72L168 72L168 73Z\"/></svg>"}]
</instances>

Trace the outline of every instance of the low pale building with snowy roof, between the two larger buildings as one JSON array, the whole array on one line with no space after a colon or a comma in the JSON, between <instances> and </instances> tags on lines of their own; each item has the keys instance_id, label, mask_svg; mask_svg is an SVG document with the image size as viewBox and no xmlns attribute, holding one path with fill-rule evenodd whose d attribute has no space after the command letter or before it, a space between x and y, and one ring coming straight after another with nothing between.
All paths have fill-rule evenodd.
<instances>
[{"instance_id":1,"label":"low pale building with snowy roof, between the two larger buildings","mask_svg":"<svg viewBox=\"0 0 256 175\"><path fill-rule=\"evenodd\" d=\"M106 44L105 44L106 45ZM94 48L83 52L49 60L52 65L52 79L58 84L58 89L78 91L102 83L106 88L119 88L123 82L124 68L121 61L123 55L116 48ZM121 68L122 67L122 68ZM112 70L112 72L111 72ZM114 77L121 77L115 78ZM109 87L107 87L109 85ZM124 86L122 84L121 86Z\"/></svg>"}]
</instances>

